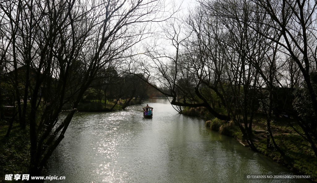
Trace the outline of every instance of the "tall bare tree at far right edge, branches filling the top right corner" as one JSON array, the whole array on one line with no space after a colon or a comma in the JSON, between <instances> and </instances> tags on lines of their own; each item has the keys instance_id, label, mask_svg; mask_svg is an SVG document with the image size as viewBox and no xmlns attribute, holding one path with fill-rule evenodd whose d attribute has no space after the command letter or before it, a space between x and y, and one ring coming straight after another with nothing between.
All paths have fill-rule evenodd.
<instances>
[{"instance_id":1,"label":"tall bare tree at far right edge, branches filling the top right corner","mask_svg":"<svg viewBox=\"0 0 317 183\"><path fill-rule=\"evenodd\" d=\"M314 1L254 1L260 6L264 16L269 16L273 20L272 28L281 35L281 38L265 36L267 39L280 45L279 51L288 55L291 82L300 76L296 72L300 71L307 92L309 101L317 114L316 89L314 88L313 75L316 70L316 2ZM294 66L296 63L296 66ZM295 80L296 81L296 80ZM298 82L298 80L297 80ZM298 83L297 83L298 84ZM293 86L293 84L291 83ZM301 116L301 109L297 108L294 117L298 119L298 124L305 134L302 136L311 144L317 156L317 146L313 139L317 136L317 121L312 117L307 123ZM296 114L297 113L297 114ZM298 131L298 130L296 130ZM299 132L299 131L298 131Z\"/></svg>"}]
</instances>

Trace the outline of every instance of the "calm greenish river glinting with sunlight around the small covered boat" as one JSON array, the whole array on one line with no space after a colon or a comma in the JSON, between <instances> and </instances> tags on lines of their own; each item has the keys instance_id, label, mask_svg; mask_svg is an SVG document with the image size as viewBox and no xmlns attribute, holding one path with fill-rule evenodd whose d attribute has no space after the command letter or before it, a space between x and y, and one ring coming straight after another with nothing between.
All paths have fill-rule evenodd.
<instances>
[{"instance_id":1,"label":"calm greenish river glinting with sunlight around the small covered boat","mask_svg":"<svg viewBox=\"0 0 317 183\"><path fill-rule=\"evenodd\" d=\"M203 119L178 114L167 99L124 111L78 113L48 163L46 182L192 183L306 182L248 179L248 175L295 175L238 141L205 127ZM308 181L307 181L308 182Z\"/></svg>"}]
</instances>

